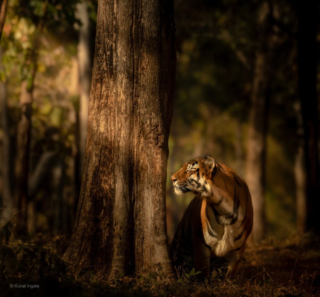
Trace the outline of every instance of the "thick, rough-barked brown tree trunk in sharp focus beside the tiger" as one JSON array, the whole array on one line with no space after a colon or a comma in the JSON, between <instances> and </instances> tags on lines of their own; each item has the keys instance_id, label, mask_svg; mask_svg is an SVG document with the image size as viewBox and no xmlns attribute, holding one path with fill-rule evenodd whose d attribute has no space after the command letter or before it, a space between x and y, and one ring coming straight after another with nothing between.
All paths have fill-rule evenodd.
<instances>
[{"instance_id":1,"label":"thick, rough-barked brown tree trunk in sharp focus beside the tiger","mask_svg":"<svg viewBox=\"0 0 320 297\"><path fill-rule=\"evenodd\" d=\"M172 271L165 184L173 42L172 1L99 1L84 173L63 256L75 272Z\"/></svg>"}]
</instances>

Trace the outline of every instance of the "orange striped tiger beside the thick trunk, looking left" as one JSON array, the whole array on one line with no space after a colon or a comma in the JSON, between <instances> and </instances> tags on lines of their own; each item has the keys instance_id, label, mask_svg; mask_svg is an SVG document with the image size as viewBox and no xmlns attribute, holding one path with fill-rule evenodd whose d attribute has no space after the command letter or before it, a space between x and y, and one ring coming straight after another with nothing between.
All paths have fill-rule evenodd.
<instances>
[{"instance_id":1,"label":"orange striped tiger beside the thick trunk, looking left","mask_svg":"<svg viewBox=\"0 0 320 297\"><path fill-rule=\"evenodd\" d=\"M226 277L233 277L253 225L246 182L209 154L183 164L171 179L176 194L195 194L172 240L177 271L194 268L208 278L210 268L220 265Z\"/></svg>"}]
</instances>

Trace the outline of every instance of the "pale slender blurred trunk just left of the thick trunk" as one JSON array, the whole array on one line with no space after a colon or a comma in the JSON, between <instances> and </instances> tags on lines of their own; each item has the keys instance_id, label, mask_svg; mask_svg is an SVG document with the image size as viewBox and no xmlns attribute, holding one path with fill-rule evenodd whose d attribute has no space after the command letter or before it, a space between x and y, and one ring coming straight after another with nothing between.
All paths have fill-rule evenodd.
<instances>
[{"instance_id":1,"label":"pale slender blurred trunk just left of the thick trunk","mask_svg":"<svg viewBox=\"0 0 320 297\"><path fill-rule=\"evenodd\" d=\"M77 4L77 17L81 21L79 29L78 62L79 62L79 176L82 176L85 144L88 130L88 104L91 86L92 65L90 61L90 20L86 1Z\"/></svg>"}]
</instances>

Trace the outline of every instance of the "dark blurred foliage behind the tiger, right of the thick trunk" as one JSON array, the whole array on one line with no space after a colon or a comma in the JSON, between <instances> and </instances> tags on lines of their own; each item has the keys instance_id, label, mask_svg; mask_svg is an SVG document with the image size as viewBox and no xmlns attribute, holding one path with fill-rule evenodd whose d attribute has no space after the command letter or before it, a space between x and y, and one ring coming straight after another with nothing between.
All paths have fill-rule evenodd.
<instances>
[{"instance_id":1,"label":"dark blurred foliage behind the tiger, right of the thick trunk","mask_svg":"<svg viewBox=\"0 0 320 297\"><path fill-rule=\"evenodd\" d=\"M295 230L293 163L298 138L297 16L295 3L272 4L269 132L266 168L268 232ZM210 153L245 178L246 131L257 42L259 1L176 1L177 74L167 174L168 233L192 194L177 199L171 175L191 159ZM320 34L319 34L320 37ZM279 220L281 217L281 220ZM170 236L170 237L171 237Z\"/></svg>"}]
</instances>

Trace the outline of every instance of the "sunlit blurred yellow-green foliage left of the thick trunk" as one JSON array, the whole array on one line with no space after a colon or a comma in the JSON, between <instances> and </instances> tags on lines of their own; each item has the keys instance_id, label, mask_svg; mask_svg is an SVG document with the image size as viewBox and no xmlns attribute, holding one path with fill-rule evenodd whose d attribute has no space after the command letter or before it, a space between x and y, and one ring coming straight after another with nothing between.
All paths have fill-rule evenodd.
<instances>
[{"instance_id":1,"label":"sunlit blurred yellow-green foliage left of the thick trunk","mask_svg":"<svg viewBox=\"0 0 320 297\"><path fill-rule=\"evenodd\" d=\"M81 26L75 16L78 2L9 0L1 39L3 70L0 78L7 89L12 164L20 118L21 82L25 79L29 87L33 83L29 175L36 172L44 153L54 153L45 177L41 177L40 188L35 197L31 197L35 205L34 231L70 232L75 216L78 199L75 185L76 135L79 125L76 47L77 31ZM93 37L96 8L95 1L89 2ZM34 66L36 71L32 72ZM57 173L59 170L62 170L61 176ZM13 180L12 176L11 187ZM61 201L56 201L54 195L57 193Z\"/></svg>"}]
</instances>

